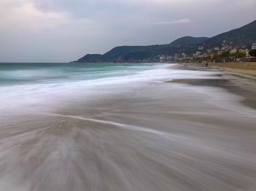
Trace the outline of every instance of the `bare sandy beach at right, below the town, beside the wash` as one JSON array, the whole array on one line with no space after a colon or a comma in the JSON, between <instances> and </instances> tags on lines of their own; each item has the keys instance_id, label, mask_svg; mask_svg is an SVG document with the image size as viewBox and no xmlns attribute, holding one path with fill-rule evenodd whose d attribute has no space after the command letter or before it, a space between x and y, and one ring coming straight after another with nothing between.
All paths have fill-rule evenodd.
<instances>
[{"instance_id":1,"label":"bare sandy beach at right, below the town, beside the wash","mask_svg":"<svg viewBox=\"0 0 256 191\"><path fill-rule=\"evenodd\" d=\"M219 70L219 79L175 79L170 82L187 83L189 85L221 87L230 93L241 95L246 106L256 108L255 103L255 63L210 63L204 65L181 65L184 69ZM252 71L252 72L250 72Z\"/></svg>"}]
</instances>

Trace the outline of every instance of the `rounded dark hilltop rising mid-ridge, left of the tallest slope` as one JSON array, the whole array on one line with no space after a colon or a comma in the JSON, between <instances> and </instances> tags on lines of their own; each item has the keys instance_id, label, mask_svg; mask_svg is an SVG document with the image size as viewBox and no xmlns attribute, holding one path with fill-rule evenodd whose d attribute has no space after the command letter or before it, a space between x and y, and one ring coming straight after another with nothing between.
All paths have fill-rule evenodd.
<instances>
[{"instance_id":1,"label":"rounded dark hilltop rising mid-ridge, left of the tallest slope","mask_svg":"<svg viewBox=\"0 0 256 191\"><path fill-rule=\"evenodd\" d=\"M184 36L170 43L172 47L188 47L192 44L200 44L206 42L208 37L193 37L193 36Z\"/></svg>"}]
</instances>

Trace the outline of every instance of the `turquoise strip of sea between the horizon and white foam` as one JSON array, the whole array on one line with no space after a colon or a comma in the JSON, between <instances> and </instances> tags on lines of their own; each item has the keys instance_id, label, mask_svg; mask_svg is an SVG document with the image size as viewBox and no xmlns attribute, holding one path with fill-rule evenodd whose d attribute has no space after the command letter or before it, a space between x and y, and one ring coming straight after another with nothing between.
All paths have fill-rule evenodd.
<instances>
[{"instance_id":1,"label":"turquoise strip of sea between the horizon and white foam","mask_svg":"<svg viewBox=\"0 0 256 191\"><path fill-rule=\"evenodd\" d=\"M156 64L113 63L0 63L0 86L78 82L124 77Z\"/></svg>"}]
</instances>

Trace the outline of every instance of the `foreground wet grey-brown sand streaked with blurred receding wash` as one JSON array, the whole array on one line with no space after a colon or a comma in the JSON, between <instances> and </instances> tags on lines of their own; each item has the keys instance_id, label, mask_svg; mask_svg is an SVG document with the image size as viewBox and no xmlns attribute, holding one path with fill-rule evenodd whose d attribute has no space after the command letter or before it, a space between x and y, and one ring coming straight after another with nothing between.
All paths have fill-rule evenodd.
<instances>
[{"instance_id":1,"label":"foreground wet grey-brown sand streaked with blurred receding wash","mask_svg":"<svg viewBox=\"0 0 256 191\"><path fill-rule=\"evenodd\" d=\"M256 190L256 83L229 75L131 84L4 117L0 187Z\"/></svg>"}]
</instances>

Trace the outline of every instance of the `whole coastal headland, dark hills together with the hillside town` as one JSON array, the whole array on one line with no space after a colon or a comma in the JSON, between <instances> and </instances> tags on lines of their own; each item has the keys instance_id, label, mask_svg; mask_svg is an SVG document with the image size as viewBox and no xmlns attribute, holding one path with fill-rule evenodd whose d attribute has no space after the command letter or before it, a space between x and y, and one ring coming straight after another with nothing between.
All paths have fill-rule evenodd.
<instances>
[{"instance_id":1,"label":"whole coastal headland, dark hills together with the hillside town","mask_svg":"<svg viewBox=\"0 0 256 191\"><path fill-rule=\"evenodd\" d=\"M256 61L256 20L241 28L208 37L184 36L169 44L114 47L87 54L75 63L202 63Z\"/></svg>"}]
</instances>

